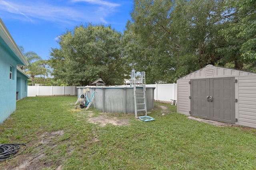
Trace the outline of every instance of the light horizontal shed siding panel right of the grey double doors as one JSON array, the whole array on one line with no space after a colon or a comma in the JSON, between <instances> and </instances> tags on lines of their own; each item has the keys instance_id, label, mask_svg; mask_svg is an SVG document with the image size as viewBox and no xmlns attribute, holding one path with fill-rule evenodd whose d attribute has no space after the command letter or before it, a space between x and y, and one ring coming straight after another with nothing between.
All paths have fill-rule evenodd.
<instances>
[{"instance_id":1,"label":"light horizontal shed siding panel right of the grey double doors","mask_svg":"<svg viewBox=\"0 0 256 170\"><path fill-rule=\"evenodd\" d=\"M239 125L256 128L256 76L238 77Z\"/></svg>"}]
</instances>

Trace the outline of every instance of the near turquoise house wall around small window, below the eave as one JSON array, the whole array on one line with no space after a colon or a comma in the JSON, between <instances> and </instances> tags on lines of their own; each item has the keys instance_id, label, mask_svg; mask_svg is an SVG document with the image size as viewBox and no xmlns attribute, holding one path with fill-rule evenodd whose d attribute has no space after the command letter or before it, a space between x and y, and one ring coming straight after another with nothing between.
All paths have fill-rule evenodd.
<instances>
[{"instance_id":1,"label":"near turquoise house wall around small window, below the eave","mask_svg":"<svg viewBox=\"0 0 256 170\"><path fill-rule=\"evenodd\" d=\"M0 44L0 124L16 110L17 62ZM12 66L12 79L10 79Z\"/></svg>"}]
</instances>

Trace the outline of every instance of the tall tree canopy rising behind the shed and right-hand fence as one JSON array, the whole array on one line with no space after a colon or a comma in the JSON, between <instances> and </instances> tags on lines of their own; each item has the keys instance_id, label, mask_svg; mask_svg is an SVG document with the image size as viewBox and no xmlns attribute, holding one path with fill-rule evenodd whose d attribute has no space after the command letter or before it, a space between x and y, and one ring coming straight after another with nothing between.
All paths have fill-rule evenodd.
<instances>
[{"instance_id":1,"label":"tall tree canopy rising behind the shed and right-hand fence","mask_svg":"<svg viewBox=\"0 0 256 170\"><path fill-rule=\"evenodd\" d=\"M207 64L255 68L255 0L134 0L125 54L150 83ZM140 70L142 69L142 70Z\"/></svg>"}]
</instances>

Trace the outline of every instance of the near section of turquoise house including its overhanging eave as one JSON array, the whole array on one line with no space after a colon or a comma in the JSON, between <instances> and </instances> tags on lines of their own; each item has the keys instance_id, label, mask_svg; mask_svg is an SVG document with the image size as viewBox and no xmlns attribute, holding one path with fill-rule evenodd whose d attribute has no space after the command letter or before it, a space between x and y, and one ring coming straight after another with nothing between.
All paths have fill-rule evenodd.
<instances>
[{"instance_id":1,"label":"near section of turquoise house including its overhanging eave","mask_svg":"<svg viewBox=\"0 0 256 170\"><path fill-rule=\"evenodd\" d=\"M0 19L0 124L16 110L17 65L28 62Z\"/></svg>"}]
</instances>

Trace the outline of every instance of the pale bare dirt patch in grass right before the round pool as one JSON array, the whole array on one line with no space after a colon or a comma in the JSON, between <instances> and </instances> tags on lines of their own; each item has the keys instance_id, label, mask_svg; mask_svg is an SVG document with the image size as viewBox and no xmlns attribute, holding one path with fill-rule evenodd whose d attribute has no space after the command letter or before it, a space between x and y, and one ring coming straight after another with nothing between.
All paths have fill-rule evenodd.
<instances>
[{"instance_id":1,"label":"pale bare dirt patch in grass right before the round pool","mask_svg":"<svg viewBox=\"0 0 256 170\"><path fill-rule=\"evenodd\" d=\"M101 115L98 117L91 117L88 119L89 122L91 123L96 123L99 124L100 126L106 126L108 123L112 124L112 125L130 125L129 119L126 118L122 118L122 119L118 119L116 117L108 117L106 115Z\"/></svg>"}]
</instances>

